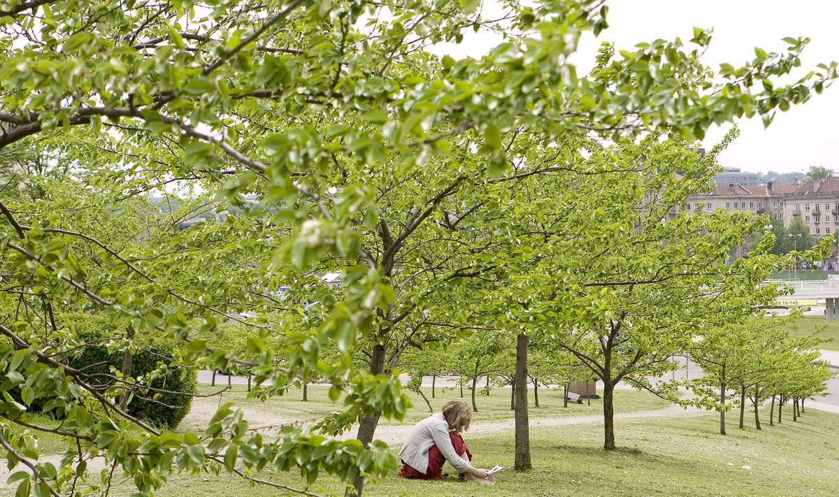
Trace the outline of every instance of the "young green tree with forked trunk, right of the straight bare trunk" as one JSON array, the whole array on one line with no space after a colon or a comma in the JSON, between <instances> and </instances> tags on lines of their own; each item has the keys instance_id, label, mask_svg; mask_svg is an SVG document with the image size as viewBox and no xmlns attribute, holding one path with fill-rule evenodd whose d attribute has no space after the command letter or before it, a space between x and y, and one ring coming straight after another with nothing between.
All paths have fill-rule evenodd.
<instances>
[{"instance_id":1,"label":"young green tree with forked trunk, right of the straight bare trunk","mask_svg":"<svg viewBox=\"0 0 839 497\"><path fill-rule=\"evenodd\" d=\"M711 168L705 161L713 154L696 160L683 146L666 147L656 140L624 144L607 150L608 162L598 152L591 154L586 172L602 172L571 176L575 202L566 205L607 226L609 235L586 236L573 224L562 224L567 216L557 216L550 248L532 251L538 264L535 258L527 263L550 278L534 277L523 292L528 300L519 296L522 320L553 312L557 328L568 330L555 332L556 343L603 381L607 448L614 447L612 392L618 381L650 388L645 378L668 372L668 358L689 348L698 329L721 316L741 319L777 295L772 287L755 289L788 262L766 254L770 238L765 238L749 259L724 264L729 249L758 233L765 219L724 212L671 216L674 206L706 180ZM636 166L635 175L608 175L615 158L628 164L644 158L656 174ZM676 170L684 175L673 175ZM608 198L599 192L608 192ZM827 248L822 245L820 254Z\"/></svg>"}]
</instances>

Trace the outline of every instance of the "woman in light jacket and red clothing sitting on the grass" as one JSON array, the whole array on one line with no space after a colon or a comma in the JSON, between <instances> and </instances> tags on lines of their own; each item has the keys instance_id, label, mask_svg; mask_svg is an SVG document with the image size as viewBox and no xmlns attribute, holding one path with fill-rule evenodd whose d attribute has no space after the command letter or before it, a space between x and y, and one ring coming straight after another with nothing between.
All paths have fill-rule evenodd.
<instances>
[{"instance_id":1,"label":"woman in light jacket and red clothing sitting on the grass","mask_svg":"<svg viewBox=\"0 0 839 497\"><path fill-rule=\"evenodd\" d=\"M469 429L472 411L463 402L452 400L443 411L417 423L399 451L402 469L399 476L411 479L443 478L443 464L448 461L466 481L489 483L492 474L472 466L472 453L466 448L461 432Z\"/></svg>"}]
</instances>

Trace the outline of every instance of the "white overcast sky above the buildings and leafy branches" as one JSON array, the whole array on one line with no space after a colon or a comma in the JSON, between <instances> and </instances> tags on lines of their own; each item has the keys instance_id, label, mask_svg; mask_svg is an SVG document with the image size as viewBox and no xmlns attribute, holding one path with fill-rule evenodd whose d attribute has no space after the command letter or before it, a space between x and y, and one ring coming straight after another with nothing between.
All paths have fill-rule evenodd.
<instances>
[{"instance_id":1,"label":"white overcast sky above the buildings and leafy branches","mask_svg":"<svg viewBox=\"0 0 839 497\"><path fill-rule=\"evenodd\" d=\"M781 39L786 36L811 39L802 68L815 69L819 62L839 60L836 0L612 0L607 5L610 28L582 50L593 54L604 40L614 42L618 49L677 36L687 43L693 37L693 27L698 26L714 29L711 48L702 59L713 69L721 62L738 65L752 60L755 46L767 51L785 50L788 45ZM495 43L491 39L466 39L466 46L440 51L480 56ZM839 81L803 106L779 112L765 130L759 118L739 123L740 137L721 154L720 162L753 172L806 171L810 165L839 172L837 121ZM711 130L703 145L710 149L726 131Z\"/></svg>"}]
</instances>

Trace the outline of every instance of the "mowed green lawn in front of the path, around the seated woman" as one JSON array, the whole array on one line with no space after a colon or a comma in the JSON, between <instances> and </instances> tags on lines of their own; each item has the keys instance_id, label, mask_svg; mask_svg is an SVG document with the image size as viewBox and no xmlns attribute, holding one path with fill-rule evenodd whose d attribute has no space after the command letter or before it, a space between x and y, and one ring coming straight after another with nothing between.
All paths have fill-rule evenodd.
<instances>
[{"instance_id":1,"label":"mowed green lawn in front of the path, around the seated woman","mask_svg":"<svg viewBox=\"0 0 839 497\"><path fill-rule=\"evenodd\" d=\"M365 495L373 497L425 497L428 495L498 497L541 495L546 497L622 496L730 496L835 497L839 494L839 416L806 410L800 421L784 414L781 425L769 426L764 413L763 430L752 425L737 429L736 416L729 416L728 435L718 434L718 416L689 416L646 421L618 421L618 448L602 449L602 426L582 424L531 430L534 469L513 471L513 433L466 438L475 463L508 469L498 474L495 485L459 481L414 481L392 474L380 484L368 484ZM747 418L753 423L753 416ZM451 468L448 468L453 473ZM263 472L271 479L295 488L305 483L294 473ZM310 492L341 495L341 482L320 479ZM127 496L126 486L112 495ZM257 486L227 474L174 475L158 497L263 497L284 491Z\"/></svg>"}]
</instances>

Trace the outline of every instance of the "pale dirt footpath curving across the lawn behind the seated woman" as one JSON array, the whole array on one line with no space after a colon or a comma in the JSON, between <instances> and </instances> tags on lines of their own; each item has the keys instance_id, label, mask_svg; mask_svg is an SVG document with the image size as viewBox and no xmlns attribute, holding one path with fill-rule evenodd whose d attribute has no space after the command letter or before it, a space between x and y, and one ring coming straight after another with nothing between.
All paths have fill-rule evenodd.
<instances>
[{"instance_id":1,"label":"pale dirt footpath curving across the lawn behind the seated woman","mask_svg":"<svg viewBox=\"0 0 839 497\"><path fill-rule=\"evenodd\" d=\"M217 400L213 400L211 398L206 397L195 398L195 401L192 405L192 411L188 416L186 416L180 427L185 430L201 432L203 430L203 427L205 427L207 422L210 420L211 416L215 413L217 407ZM261 431L263 432L272 432L275 429L278 429L279 426L298 421L297 419L289 419L288 413L285 413L286 416L277 416L273 415L269 411L248 408L248 406L244 407L244 411L244 417L248 420L249 424L253 428L261 429ZM701 416L706 413L707 411L701 411L693 408L690 408L685 411L685 409L678 405L671 405L670 407L659 409L656 411L635 411L626 413L616 413L615 421L661 419L678 416ZM565 416L560 418L537 418L530 420L530 430L531 432L539 432L539 430L549 427L592 425L602 423L602 421L602 415ZM387 442L388 445L396 447L401 442L403 442L406 437L408 437L408 432L410 432L412 427L413 424L379 425L376 428L376 438L382 440L383 442ZM486 423L476 422L472 423L472 426L469 431L469 437L478 438L499 432L512 432L513 427L514 420L512 418L504 421L494 421ZM347 432L341 438L352 437L355 437L355 431ZM61 456L58 454L47 455L39 459L39 463L47 462L53 463L56 467L58 467L61 462ZM102 469L106 468L105 459L93 458L90 461L88 461L87 468L88 471L91 473L99 472ZM23 466L23 464L20 464L18 465L18 468L13 469L13 472L16 472L21 469L27 468ZM8 479L10 473L12 472L8 470L5 464L0 465L0 489L8 488L9 485L6 484L6 480ZM17 486L17 483L13 485ZM0 494L2 493L3 492L0 492Z\"/></svg>"}]
</instances>

